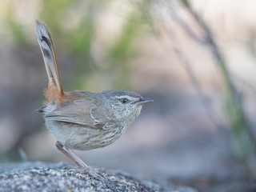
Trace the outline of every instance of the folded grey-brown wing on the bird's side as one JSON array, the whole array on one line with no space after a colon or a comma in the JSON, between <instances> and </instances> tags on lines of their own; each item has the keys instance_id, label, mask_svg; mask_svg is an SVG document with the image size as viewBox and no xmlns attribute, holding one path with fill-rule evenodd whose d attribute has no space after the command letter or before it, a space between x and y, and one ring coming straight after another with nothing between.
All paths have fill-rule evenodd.
<instances>
[{"instance_id":1,"label":"folded grey-brown wing on the bird's side","mask_svg":"<svg viewBox=\"0 0 256 192\"><path fill-rule=\"evenodd\" d=\"M82 99L59 106L45 117L47 120L70 122L104 130L116 126L109 110Z\"/></svg>"}]
</instances>

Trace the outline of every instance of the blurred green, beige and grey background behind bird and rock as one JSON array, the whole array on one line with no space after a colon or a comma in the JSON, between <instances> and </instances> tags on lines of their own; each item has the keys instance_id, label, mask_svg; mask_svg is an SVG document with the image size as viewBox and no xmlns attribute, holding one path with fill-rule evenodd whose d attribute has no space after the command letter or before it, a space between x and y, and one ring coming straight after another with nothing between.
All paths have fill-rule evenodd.
<instances>
[{"instance_id":1,"label":"blurred green, beige and grey background behind bird and rock","mask_svg":"<svg viewBox=\"0 0 256 192\"><path fill-rule=\"evenodd\" d=\"M255 191L256 2L0 2L0 162L69 161L35 110L46 70L35 19L50 28L64 90L154 98L90 166L201 191Z\"/></svg>"}]
</instances>

